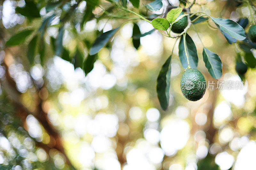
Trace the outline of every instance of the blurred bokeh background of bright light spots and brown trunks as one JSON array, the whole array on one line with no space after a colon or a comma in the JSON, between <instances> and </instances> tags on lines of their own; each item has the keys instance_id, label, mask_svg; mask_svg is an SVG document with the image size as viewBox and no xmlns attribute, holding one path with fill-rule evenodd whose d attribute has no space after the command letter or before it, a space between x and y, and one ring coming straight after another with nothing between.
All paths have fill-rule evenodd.
<instances>
[{"instance_id":1,"label":"blurred bokeh background of bright light spots and brown trunks","mask_svg":"<svg viewBox=\"0 0 256 170\"><path fill-rule=\"evenodd\" d=\"M180 91L184 72L178 59L178 43L172 56L171 97L167 111L156 96L156 79L164 61L172 53L175 39L155 31L140 38L140 47L132 45L132 27L140 32L153 29L146 21L108 16L99 6L81 30L79 21L87 10L87 2L67 1L47 11L47 1L35 0L40 17L30 18L15 11L27 1L0 1L0 169L99 169L99 170L253 170L256 167L256 79L255 70L245 74L239 90L207 89L204 97L188 101ZM164 9L179 1L162 1L159 11L144 15L162 15ZM121 24L111 42L98 53L92 71L84 71L54 55L51 37L56 38L63 23L63 12L76 5L65 21L62 45L72 56L81 49L88 55L86 44L92 44L100 32ZM103 8L112 8L100 1ZM182 5L181 5L182 6ZM128 3L128 8L132 8ZM35 9L30 9L31 11ZM114 14L126 13L112 8ZM246 4L236 1L196 1L191 12L204 11L212 17L249 18ZM252 8L253 10L253 8ZM42 21L52 20L44 35L45 59L35 54L33 64L27 59L31 36L14 47L4 44L25 28L35 32ZM134 17L129 14L129 17ZM255 17L255 15L254 15ZM251 18L249 18L251 21ZM125 23L126 22L126 23ZM212 23L210 23L212 25ZM249 24L251 25L251 24ZM248 31L249 26L245 28ZM219 81L239 81L236 56L244 52L236 44L229 45L218 30L207 22L195 25L204 46L217 53L223 63ZM206 81L212 79L204 66L203 46L190 28L198 57L198 70ZM252 50L254 53L255 51Z\"/></svg>"}]
</instances>

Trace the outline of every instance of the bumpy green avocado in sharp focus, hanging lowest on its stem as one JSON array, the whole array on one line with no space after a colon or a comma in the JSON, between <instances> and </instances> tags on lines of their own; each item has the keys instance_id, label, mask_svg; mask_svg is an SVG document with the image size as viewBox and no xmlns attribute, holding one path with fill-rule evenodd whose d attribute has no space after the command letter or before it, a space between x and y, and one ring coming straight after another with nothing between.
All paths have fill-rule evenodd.
<instances>
[{"instance_id":1,"label":"bumpy green avocado in sharp focus, hanging lowest on its stem","mask_svg":"<svg viewBox=\"0 0 256 170\"><path fill-rule=\"evenodd\" d=\"M192 89L186 88L188 82L193 82L194 87ZM206 90L206 81L203 74L197 69L188 68L181 76L180 89L182 94L190 101L201 99Z\"/></svg>"}]
</instances>

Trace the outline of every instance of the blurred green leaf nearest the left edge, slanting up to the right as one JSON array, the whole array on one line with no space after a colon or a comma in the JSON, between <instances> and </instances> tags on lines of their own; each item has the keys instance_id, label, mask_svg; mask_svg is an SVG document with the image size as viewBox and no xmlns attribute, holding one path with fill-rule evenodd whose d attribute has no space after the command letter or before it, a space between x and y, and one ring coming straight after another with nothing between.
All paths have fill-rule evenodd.
<instances>
[{"instance_id":1,"label":"blurred green leaf nearest the left edge, slanting up to the right","mask_svg":"<svg viewBox=\"0 0 256 170\"><path fill-rule=\"evenodd\" d=\"M5 46L17 46L23 43L25 39L33 32L33 30L23 30L14 34L6 43Z\"/></svg>"}]
</instances>

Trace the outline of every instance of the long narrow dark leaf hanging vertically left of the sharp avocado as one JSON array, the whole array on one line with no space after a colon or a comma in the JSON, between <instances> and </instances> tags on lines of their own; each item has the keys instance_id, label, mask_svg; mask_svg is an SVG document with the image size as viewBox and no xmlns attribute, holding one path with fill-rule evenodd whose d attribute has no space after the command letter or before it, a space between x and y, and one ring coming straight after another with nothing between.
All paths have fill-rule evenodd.
<instances>
[{"instance_id":1,"label":"long narrow dark leaf hanging vertically left of the sharp avocado","mask_svg":"<svg viewBox=\"0 0 256 170\"><path fill-rule=\"evenodd\" d=\"M171 58L172 55L168 57L168 59L165 61L156 80L157 97L163 110L167 110L169 105L169 91L171 83Z\"/></svg>"}]
</instances>

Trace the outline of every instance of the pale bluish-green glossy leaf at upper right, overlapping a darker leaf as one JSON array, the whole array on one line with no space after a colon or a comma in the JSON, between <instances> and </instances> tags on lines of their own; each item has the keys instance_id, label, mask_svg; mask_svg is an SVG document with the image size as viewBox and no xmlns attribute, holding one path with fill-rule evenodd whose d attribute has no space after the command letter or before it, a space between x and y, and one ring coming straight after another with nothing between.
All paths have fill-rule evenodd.
<instances>
[{"instance_id":1,"label":"pale bluish-green glossy leaf at upper right, overlapping a darker leaf","mask_svg":"<svg viewBox=\"0 0 256 170\"><path fill-rule=\"evenodd\" d=\"M237 40L244 40L246 38L243 27L237 24L235 21L232 21L231 19L210 18L215 25L219 25L222 31L228 33L230 37Z\"/></svg>"}]
</instances>

